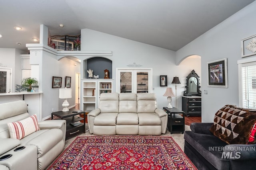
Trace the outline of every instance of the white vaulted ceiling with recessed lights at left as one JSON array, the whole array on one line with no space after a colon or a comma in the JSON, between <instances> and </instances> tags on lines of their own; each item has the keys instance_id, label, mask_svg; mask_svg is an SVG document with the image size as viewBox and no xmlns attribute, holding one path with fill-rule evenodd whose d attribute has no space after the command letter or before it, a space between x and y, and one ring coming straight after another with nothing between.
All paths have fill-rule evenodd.
<instances>
[{"instance_id":1,"label":"white vaulted ceiling with recessed lights at left","mask_svg":"<svg viewBox=\"0 0 256 170\"><path fill-rule=\"evenodd\" d=\"M4 0L0 47L27 50L44 24L50 35L77 35L88 28L177 51L253 1Z\"/></svg>"}]
</instances>

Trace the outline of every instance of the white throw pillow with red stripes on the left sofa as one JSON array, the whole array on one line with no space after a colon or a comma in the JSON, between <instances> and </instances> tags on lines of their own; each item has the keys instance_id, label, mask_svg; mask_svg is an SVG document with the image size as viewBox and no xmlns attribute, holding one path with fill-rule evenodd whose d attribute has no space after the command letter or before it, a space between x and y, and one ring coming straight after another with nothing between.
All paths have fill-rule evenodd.
<instances>
[{"instance_id":1,"label":"white throw pillow with red stripes on the left sofa","mask_svg":"<svg viewBox=\"0 0 256 170\"><path fill-rule=\"evenodd\" d=\"M32 115L21 121L8 123L8 129L10 137L19 140L40 130L36 115Z\"/></svg>"}]
</instances>

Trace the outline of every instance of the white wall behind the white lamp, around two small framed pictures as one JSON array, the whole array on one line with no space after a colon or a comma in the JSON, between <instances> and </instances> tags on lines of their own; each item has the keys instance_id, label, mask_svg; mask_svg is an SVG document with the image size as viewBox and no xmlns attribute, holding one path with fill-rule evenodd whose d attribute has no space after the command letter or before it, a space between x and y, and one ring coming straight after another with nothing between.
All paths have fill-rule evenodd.
<instances>
[{"instance_id":1,"label":"white wall behind the white lamp, around two small framed pictures","mask_svg":"<svg viewBox=\"0 0 256 170\"><path fill-rule=\"evenodd\" d=\"M68 99L70 106L75 105L75 75L80 72L80 64L63 58L60 61L56 59L56 55L43 52L42 57L42 77L40 80L43 97L42 97L42 118L49 118L52 109L60 111L63 109L64 100L59 99L59 89L52 88L52 76L62 77L62 87L65 88L65 77L71 77L72 98Z\"/></svg>"}]
</instances>

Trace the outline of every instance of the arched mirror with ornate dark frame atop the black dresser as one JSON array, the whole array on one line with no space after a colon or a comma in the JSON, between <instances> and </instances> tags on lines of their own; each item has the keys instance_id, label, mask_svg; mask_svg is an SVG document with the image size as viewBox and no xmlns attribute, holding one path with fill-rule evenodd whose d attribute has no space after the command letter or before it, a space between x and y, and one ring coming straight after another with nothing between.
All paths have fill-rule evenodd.
<instances>
[{"instance_id":1,"label":"arched mirror with ornate dark frame atop the black dresser","mask_svg":"<svg viewBox=\"0 0 256 170\"><path fill-rule=\"evenodd\" d=\"M199 86L199 84L199 76L196 74L195 70L192 70L187 76L184 96L201 96L201 86Z\"/></svg>"}]
</instances>

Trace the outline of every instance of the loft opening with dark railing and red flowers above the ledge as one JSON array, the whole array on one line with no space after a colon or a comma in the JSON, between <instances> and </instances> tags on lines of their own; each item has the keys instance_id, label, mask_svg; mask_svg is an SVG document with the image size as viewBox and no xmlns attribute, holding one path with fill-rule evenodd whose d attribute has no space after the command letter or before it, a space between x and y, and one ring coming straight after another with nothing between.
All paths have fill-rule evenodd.
<instances>
[{"instance_id":1,"label":"loft opening with dark railing and red flowers above the ledge","mask_svg":"<svg viewBox=\"0 0 256 170\"><path fill-rule=\"evenodd\" d=\"M80 50L80 47L81 47L80 34L48 36L48 46L56 50L64 50L64 51Z\"/></svg>"}]
</instances>

